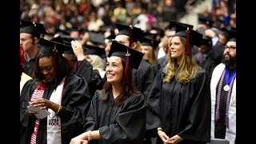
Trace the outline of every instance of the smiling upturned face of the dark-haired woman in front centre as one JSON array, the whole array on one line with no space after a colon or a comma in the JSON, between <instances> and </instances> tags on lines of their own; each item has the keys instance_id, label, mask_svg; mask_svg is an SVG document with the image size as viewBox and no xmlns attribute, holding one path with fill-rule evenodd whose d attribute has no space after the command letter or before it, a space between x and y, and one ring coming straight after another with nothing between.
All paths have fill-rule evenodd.
<instances>
[{"instance_id":1,"label":"smiling upturned face of the dark-haired woman in front centre","mask_svg":"<svg viewBox=\"0 0 256 144\"><path fill-rule=\"evenodd\" d=\"M107 82L112 85L121 86L123 74L122 59L120 57L110 57L106 62L106 78Z\"/></svg>"}]
</instances>

